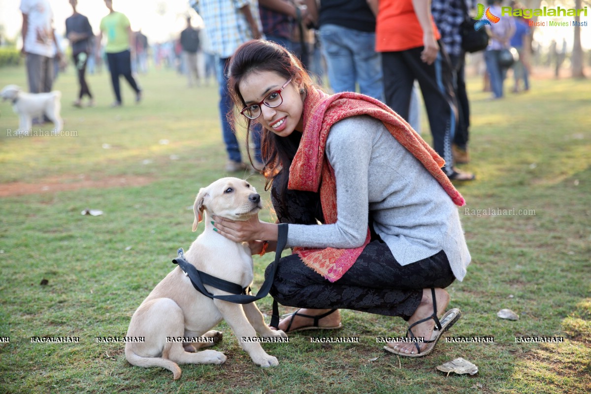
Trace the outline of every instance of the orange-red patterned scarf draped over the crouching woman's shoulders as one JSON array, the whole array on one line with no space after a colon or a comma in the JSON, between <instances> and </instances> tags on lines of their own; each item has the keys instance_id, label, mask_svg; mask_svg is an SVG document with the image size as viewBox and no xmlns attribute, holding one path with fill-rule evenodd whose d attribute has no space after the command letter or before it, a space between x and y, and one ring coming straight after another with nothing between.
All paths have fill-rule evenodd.
<instances>
[{"instance_id":1,"label":"orange-red patterned scarf draped over the crouching woman's shoulders","mask_svg":"<svg viewBox=\"0 0 591 394\"><path fill-rule=\"evenodd\" d=\"M320 188L320 203L327 224L336 223L337 209L335 171L324 155L326 139L334 123L358 115L369 115L382 121L392 136L423 163L453 202L457 206L465 204L462 195L441 170L444 160L387 105L358 93L345 92L329 96L321 90L310 88L304 101L304 131L290 167L287 187L314 192ZM294 248L294 252L300 255L307 266L330 282L335 282L355 263L369 239L368 227L365 242L359 248Z\"/></svg>"}]
</instances>

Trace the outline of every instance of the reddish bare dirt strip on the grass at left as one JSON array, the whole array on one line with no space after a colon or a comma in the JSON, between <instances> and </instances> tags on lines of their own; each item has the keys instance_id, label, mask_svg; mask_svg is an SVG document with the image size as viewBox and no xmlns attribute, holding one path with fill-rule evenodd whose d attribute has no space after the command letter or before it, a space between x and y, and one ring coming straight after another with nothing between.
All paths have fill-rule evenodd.
<instances>
[{"instance_id":1,"label":"reddish bare dirt strip on the grass at left","mask_svg":"<svg viewBox=\"0 0 591 394\"><path fill-rule=\"evenodd\" d=\"M55 193L56 191L79 190L88 188L132 187L149 184L153 181L148 177L124 176L87 179L79 177L51 177L35 183L11 182L0 184L0 198L25 196L27 194Z\"/></svg>"}]
</instances>

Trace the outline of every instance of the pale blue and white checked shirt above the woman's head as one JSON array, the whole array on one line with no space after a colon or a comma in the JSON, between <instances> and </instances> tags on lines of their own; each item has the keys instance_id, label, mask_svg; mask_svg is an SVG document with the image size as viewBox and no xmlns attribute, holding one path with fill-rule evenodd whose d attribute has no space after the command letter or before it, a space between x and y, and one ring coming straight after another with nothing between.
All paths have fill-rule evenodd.
<instances>
[{"instance_id":1,"label":"pale blue and white checked shirt above the woman's head","mask_svg":"<svg viewBox=\"0 0 591 394\"><path fill-rule=\"evenodd\" d=\"M251 27L240 9L249 5L262 34L258 0L191 0L191 7L203 18L207 42L204 51L228 58L248 40L252 40Z\"/></svg>"}]
</instances>

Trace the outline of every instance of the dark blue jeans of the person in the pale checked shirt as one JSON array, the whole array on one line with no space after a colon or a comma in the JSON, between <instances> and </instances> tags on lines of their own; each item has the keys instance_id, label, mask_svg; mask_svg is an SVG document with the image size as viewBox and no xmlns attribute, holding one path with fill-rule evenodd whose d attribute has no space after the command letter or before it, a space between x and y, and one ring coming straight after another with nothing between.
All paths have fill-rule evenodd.
<instances>
[{"instance_id":1,"label":"dark blue jeans of the person in the pale checked shirt","mask_svg":"<svg viewBox=\"0 0 591 394\"><path fill-rule=\"evenodd\" d=\"M236 139L236 134L232 130L232 126L230 126L230 122L228 122L228 114L232 112L233 109L233 102L232 97L230 97L230 93L228 90L228 69L227 66L229 64L230 58L220 58L219 63L217 64L217 83L219 84L219 93L220 93L220 102L219 102L219 111L220 111L220 121L222 121L222 137L223 142L226 144L226 151L228 152L228 158L231 161L235 162L242 162L242 156L240 154L240 145L238 144L238 139ZM242 116L242 115L241 115ZM262 128L257 123L256 126L251 128L251 135L252 141L255 144L255 158L258 161L262 161L261 159L261 134ZM248 145L246 146L248 149Z\"/></svg>"}]
</instances>

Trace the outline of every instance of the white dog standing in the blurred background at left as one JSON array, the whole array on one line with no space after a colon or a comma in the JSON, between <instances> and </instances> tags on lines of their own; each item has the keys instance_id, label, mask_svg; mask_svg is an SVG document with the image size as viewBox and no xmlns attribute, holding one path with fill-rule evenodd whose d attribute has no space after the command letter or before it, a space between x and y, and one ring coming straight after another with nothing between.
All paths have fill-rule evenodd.
<instances>
[{"instance_id":1,"label":"white dog standing in the blurred background at left","mask_svg":"<svg viewBox=\"0 0 591 394\"><path fill-rule=\"evenodd\" d=\"M59 90L49 93L25 93L17 85L8 85L2 89L0 96L3 101L12 101L12 110L19 117L19 134L31 132L33 118L43 118L43 115L53 122L53 133L57 133L63 128L64 122L60 116L61 92Z\"/></svg>"}]
</instances>

